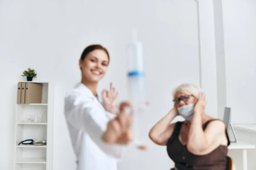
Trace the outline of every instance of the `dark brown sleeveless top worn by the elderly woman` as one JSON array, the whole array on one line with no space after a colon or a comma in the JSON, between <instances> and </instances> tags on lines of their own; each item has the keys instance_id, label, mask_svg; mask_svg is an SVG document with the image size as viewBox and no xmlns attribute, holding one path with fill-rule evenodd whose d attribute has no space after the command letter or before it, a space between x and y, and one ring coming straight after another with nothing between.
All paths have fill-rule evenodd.
<instances>
[{"instance_id":1,"label":"dark brown sleeveless top worn by the elderly woman","mask_svg":"<svg viewBox=\"0 0 256 170\"><path fill-rule=\"evenodd\" d=\"M207 125L217 119L212 119L204 123L203 129ZM175 162L175 167L178 170L227 170L227 146L220 145L211 153L204 156L197 156L190 153L186 145L182 145L178 136L180 134L183 122L176 122L172 136L167 142L167 153L172 161ZM227 135L228 145L230 140Z\"/></svg>"}]
</instances>

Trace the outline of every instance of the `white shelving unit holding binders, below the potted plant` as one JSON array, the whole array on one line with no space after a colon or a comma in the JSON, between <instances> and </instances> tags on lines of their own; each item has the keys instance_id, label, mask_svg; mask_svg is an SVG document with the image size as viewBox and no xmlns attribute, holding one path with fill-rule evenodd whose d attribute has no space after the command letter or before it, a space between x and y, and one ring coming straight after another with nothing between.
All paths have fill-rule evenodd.
<instances>
[{"instance_id":1,"label":"white shelving unit holding binders, below the potted plant","mask_svg":"<svg viewBox=\"0 0 256 170\"><path fill-rule=\"evenodd\" d=\"M52 170L54 86L50 82L30 83L42 84L41 103L16 104L14 170ZM47 145L18 145L27 139L47 141Z\"/></svg>"}]
</instances>

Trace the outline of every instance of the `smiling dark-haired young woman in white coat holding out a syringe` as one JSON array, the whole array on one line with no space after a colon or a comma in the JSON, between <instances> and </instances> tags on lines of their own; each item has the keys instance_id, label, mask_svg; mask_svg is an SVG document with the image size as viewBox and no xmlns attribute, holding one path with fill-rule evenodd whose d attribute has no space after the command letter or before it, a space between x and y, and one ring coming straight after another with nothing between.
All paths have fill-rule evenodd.
<instances>
[{"instance_id":1,"label":"smiling dark-haired young woman in white coat holding out a syringe","mask_svg":"<svg viewBox=\"0 0 256 170\"><path fill-rule=\"evenodd\" d=\"M109 91L102 92L102 104L96 93L108 63L108 51L101 45L85 48L79 60L81 83L65 96L64 113L77 170L116 170L122 144L132 139L131 117L124 113L129 103L121 103L117 111L118 94L112 84Z\"/></svg>"}]
</instances>

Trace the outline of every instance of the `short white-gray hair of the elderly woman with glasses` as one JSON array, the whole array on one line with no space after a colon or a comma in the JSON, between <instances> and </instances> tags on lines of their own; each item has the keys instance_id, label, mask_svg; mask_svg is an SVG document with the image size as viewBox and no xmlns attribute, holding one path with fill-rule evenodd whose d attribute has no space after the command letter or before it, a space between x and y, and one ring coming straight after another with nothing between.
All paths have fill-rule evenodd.
<instances>
[{"instance_id":1,"label":"short white-gray hair of the elderly woman with glasses","mask_svg":"<svg viewBox=\"0 0 256 170\"><path fill-rule=\"evenodd\" d=\"M178 91L187 95L193 95L198 99L198 94L201 92L201 88L198 85L193 85L193 84L179 85L172 92L173 98L175 98L175 95Z\"/></svg>"}]
</instances>

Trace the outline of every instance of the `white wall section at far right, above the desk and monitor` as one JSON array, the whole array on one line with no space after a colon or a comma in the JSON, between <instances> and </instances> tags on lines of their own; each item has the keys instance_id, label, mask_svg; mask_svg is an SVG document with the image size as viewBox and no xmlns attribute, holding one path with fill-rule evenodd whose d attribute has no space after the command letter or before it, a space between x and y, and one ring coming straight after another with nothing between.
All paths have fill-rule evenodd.
<instances>
[{"instance_id":1,"label":"white wall section at far right, above the desk and monitor","mask_svg":"<svg viewBox=\"0 0 256 170\"><path fill-rule=\"evenodd\" d=\"M256 123L256 1L223 0L227 106L234 124Z\"/></svg>"}]
</instances>

